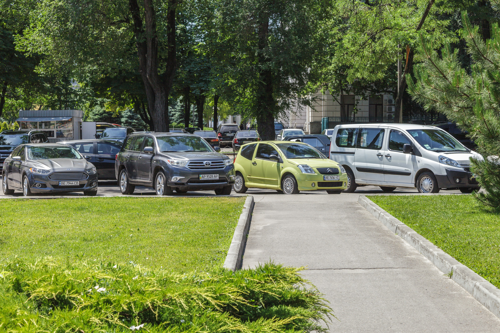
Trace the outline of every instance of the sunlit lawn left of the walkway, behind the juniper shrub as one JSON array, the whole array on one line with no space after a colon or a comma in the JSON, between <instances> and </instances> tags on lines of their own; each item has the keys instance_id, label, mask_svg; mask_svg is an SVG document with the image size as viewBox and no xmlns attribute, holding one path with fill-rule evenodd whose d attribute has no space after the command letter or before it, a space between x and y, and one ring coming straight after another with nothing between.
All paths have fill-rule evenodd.
<instances>
[{"instance_id":1,"label":"sunlit lawn left of the walkway, behind the juniper shrub","mask_svg":"<svg viewBox=\"0 0 500 333\"><path fill-rule=\"evenodd\" d=\"M245 198L0 199L0 261L222 266Z\"/></svg>"}]
</instances>

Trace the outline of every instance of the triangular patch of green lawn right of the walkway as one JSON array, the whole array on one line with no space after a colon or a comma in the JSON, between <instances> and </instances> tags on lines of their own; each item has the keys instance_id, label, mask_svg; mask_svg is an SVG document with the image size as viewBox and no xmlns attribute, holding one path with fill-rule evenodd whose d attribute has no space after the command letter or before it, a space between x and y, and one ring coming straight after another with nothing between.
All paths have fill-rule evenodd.
<instances>
[{"instance_id":1,"label":"triangular patch of green lawn right of the walkway","mask_svg":"<svg viewBox=\"0 0 500 333\"><path fill-rule=\"evenodd\" d=\"M368 198L500 288L500 215L472 195Z\"/></svg>"}]
</instances>

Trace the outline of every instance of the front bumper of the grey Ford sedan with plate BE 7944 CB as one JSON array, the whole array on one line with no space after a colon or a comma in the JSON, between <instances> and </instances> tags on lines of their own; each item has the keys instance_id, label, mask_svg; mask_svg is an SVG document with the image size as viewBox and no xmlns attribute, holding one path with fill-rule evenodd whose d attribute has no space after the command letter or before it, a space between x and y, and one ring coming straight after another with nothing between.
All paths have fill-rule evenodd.
<instances>
[{"instance_id":1,"label":"front bumper of the grey Ford sedan with plate BE 7944 CB","mask_svg":"<svg viewBox=\"0 0 500 333\"><path fill-rule=\"evenodd\" d=\"M48 176L50 176L50 174L29 174L28 182L31 193L85 192L95 191L97 189L97 173L88 175L87 179L79 180L78 186L59 186L59 181L50 180ZM37 187L37 184L39 184L40 187Z\"/></svg>"}]
</instances>

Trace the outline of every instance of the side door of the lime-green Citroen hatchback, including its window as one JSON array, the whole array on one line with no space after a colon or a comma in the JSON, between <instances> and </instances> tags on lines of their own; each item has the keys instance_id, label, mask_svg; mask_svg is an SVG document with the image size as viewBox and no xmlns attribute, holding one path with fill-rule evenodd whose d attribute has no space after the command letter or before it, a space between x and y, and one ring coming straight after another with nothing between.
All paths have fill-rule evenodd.
<instances>
[{"instance_id":1,"label":"side door of the lime-green Citroen hatchback, including its window","mask_svg":"<svg viewBox=\"0 0 500 333\"><path fill-rule=\"evenodd\" d=\"M259 185L278 185L280 163L272 161L269 158L270 155L279 156L279 153L270 144L259 143L255 157L251 163L251 179L253 183Z\"/></svg>"}]
</instances>

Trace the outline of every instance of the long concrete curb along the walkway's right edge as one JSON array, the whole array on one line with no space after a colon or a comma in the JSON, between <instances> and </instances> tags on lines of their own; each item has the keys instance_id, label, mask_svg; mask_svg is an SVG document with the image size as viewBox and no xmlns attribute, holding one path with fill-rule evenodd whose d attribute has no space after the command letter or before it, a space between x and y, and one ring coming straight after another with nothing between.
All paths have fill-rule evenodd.
<instances>
[{"instance_id":1,"label":"long concrete curb along the walkway's right edge","mask_svg":"<svg viewBox=\"0 0 500 333\"><path fill-rule=\"evenodd\" d=\"M452 272L451 280L465 289L493 315L500 318L500 290L498 288L381 209L366 196L359 196L357 202L390 231L399 235L406 243L430 260L441 272L444 274Z\"/></svg>"}]
</instances>

